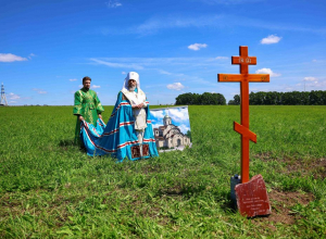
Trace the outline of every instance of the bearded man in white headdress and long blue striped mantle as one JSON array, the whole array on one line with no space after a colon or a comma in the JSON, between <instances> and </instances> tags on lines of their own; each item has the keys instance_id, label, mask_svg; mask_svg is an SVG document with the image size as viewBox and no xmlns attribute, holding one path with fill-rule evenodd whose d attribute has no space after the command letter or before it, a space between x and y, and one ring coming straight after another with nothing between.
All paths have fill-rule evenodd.
<instances>
[{"instance_id":1,"label":"bearded man in white headdress and long blue striped mantle","mask_svg":"<svg viewBox=\"0 0 326 239\"><path fill-rule=\"evenodd\" d=\"M109 154L117 162L159 156L150 103L136 72L125 78L108 124L99 121L95 127L83 121L80 135L88 155Z\"/></svg>"}]
</instances>

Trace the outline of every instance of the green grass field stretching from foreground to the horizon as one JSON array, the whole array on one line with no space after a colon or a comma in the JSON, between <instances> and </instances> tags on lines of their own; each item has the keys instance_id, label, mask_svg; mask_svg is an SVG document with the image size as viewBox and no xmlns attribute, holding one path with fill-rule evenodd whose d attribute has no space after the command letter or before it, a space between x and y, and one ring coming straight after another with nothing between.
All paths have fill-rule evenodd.
<instances>
[{"instance_id":1,"label":"green grass field stretching from foreground to the horizon","mask_svg":"<svg viewBox=\"0 0 326 239\"><path fill-rule=\"evenodd\" d=\"M123 163L73 144L72 111L0 108L0 238L326 237L326 106L250 106L250 176L272 203L251 219L229 197L239 106L189 106L191 149Z\"/></svg>"}]
</instances>

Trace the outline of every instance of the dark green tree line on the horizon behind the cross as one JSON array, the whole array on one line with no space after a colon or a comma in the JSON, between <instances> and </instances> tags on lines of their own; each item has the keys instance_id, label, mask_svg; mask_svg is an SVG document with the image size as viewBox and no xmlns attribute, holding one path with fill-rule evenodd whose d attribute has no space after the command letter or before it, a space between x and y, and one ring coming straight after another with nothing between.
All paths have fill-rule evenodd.
<instances>
[{"instance_id":1,"label":"dark green tree line on the horizon behind the cross","mask_svg":"<svg viewBox=\"0 0 326 239\"><path fill-rule=\"evenodd\" d=\"M176 105L186 104L220 104L225 105L226 100L222 93L183 93L176 98ZM228 105L240 104L240 96L234 96ZM291 91L291 92L251 92L249 93L251 105L326 105L326 90Z\"/></svg>"}]
</instances>

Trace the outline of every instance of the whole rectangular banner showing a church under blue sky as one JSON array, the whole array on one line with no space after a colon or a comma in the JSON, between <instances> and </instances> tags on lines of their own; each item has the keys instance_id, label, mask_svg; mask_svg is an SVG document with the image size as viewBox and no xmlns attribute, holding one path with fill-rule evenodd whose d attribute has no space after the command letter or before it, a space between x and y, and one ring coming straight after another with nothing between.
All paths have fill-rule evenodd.
<instances>
[{"instance_id":1,"label":"whole rectangular banner showing a church under blue sky","mask_svg":"<svg viewBox=\"0 0 326 239\"><path fill-rule=\"evenodd\" d=\"M183 150L186 146L191 147L187 106L151 110L151 118L159 150Z\"/></svg>"}]
</instances>

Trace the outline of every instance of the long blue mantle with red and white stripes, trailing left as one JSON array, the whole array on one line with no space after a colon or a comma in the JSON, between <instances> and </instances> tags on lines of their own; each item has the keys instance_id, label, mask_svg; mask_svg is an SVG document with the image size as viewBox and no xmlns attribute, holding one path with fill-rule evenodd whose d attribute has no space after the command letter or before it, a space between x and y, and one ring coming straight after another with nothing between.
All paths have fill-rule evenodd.
<instances>
[{"instance_id":1,"label":"long blue mantle with red and white stripes, trailing left","mask_svg":"<svg viewBox=\"0 0 326 239\"><path fill-rule=\"evenodd\" d=\"M129 160L158 156L158 149L150 118L149 102L145 109L147 113L147 128L145 129L142 149L143 156L139 155L139 143L134 127L135 117L128 100L123 100L123 93L117 95L117 101L112 111L108 125L102 120L97 121L96 127L82 122L80 138L88 155L110 154L122 162L126 156ZM138 147L138 148L137 148Z\"/></svg>"}]
</instances>

